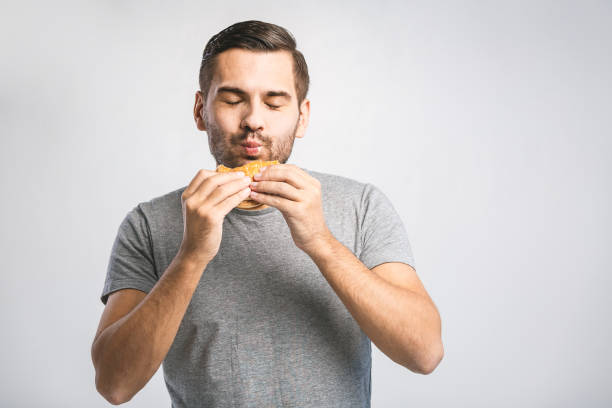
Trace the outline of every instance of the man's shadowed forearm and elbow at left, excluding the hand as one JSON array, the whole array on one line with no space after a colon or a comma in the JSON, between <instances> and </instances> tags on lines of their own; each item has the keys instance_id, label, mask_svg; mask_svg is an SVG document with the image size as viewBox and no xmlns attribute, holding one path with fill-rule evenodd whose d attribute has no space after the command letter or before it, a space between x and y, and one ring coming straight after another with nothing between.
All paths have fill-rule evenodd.
<instances>
[{"instance_id":1,"label":"man's shadowed forearm and elbow at left, excluding the hand","mask_svg":"<svg viewBox=\"0 0 612 408\"><path fill-rule=\"evenodd\" d=\"M151 292L94 340L96 388L109 402L129 401L155 374L205 268L179 253Z\"/></svg>"}]
</instances>

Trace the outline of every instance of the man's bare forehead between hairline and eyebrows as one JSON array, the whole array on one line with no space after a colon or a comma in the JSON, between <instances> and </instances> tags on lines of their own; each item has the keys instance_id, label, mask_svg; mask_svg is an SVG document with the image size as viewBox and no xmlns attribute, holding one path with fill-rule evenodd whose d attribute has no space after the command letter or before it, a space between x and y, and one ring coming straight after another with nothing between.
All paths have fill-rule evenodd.
<instances>
[{"instance_id":1,"label":"man's bare forehead between hairline and eyebrows","mask_svg":"<svg viewBox=\"0 0 612 408\"><path fill-rule=\"evenodd\" d=\"M295 95L293 57L289 51L229 49L217 55L211 91L234 86L248 93L284 90Z\"/></svg>"}]
</instances>

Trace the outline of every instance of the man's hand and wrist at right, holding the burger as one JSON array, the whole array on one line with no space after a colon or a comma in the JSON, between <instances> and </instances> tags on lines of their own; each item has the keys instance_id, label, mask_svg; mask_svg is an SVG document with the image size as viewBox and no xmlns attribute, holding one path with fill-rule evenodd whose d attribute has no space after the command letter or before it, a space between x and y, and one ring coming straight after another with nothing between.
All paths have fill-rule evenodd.
<instances>
[{"instance_id":1,"label":"man's hand and wrist at right, holding the burger","mask_svg":"<svg viewBox=\"0 0 612 408\"><path fill-rule=\"evenodd\" d=\"M254 179L249 198L283 214L298 248L309 254L331 237L323 216L319 180L293 164L267 166Z\"/></svg>"}]
</instances>

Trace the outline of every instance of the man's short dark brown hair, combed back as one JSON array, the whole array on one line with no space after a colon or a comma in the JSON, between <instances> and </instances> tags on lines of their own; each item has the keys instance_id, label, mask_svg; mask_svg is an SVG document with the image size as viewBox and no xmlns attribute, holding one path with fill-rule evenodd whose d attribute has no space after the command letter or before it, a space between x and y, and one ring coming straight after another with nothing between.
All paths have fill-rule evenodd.
<instances>
[{"instance_id":1,"label":"man's short dark brown hair, combed back","mask_svg":"<svg viewBox=\"0 0 612 408\"><path fill-rule=\"evenodd\" d=\"M210 82L216 68L216 56L230 48L253 51L289 51L293 56L293 77L298 106L308 94L310 78L304 55L296 48L293 35L281 26L263 21L249 20L232 24L208 40L200 65L200 91L208 96Z\"/></svg>"}]
</instances>

